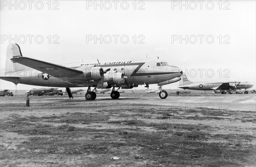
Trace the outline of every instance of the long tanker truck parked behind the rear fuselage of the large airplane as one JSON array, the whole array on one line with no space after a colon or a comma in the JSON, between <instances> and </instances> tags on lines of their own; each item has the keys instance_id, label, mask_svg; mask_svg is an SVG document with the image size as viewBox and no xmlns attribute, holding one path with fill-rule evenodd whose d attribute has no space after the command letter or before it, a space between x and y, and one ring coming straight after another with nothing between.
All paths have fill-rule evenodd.
<instances>
[{"instance_id":1,"label":"long tanker truck parked behind the rear fuselage of the large airplane","mask_svg":"<svg viewBox=\"0 0 256 167\"><path fill-rule=\"evenodd\" d=\"M51 95L63 95L61 90L58 88L38 88L38 89L31 89L29 91L29 95L33 96L51 96Z\"/></svg>"}]
</instances>

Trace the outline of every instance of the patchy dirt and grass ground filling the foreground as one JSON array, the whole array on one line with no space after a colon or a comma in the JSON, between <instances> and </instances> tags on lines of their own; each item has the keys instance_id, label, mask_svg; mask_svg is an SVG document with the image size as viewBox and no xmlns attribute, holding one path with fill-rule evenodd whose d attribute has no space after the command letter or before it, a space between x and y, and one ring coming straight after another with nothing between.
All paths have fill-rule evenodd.
<instances>
[{"instance_id":1,"label":"patchy dirt and grass ground filling the foreground","mask_svg":"<svg viewBox=\"0 0 256 167\"><path fill-rule=\"evenodd\" d=\"M0 166L256 166L254 109L106 98L0 97Z\"/></svg>"}]
</instances>

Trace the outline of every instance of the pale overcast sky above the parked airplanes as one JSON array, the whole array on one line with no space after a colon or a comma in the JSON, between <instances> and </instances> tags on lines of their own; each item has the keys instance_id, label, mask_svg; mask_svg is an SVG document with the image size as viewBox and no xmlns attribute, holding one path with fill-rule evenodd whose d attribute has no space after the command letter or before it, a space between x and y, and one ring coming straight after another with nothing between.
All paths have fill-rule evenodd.
<instances>
[{"instance_id":1,"label":"pale overcast sky above the parked airplanes","mask_svg":"<svg viewBox=\"0 0 256 167\"><path fill-rule=\"evenodd\" d=\"M82 59L83 62L96 62L97 58L100 61L128 61L145 59L148 55L166 59L184 72L190 71L187 76L192 82L247 80L255 87L255 0L183 1L185 6L180 6L180 1L97 1L102 3L102 9L94 6L95 1L60 0L51 1L51 4L34 1L31 10L29 3L23 2L26 4L17 1L15 9L9 1L1 1L1 69L5 67L7 45L16 42L24 57L56 64L81 62ZM6 40L15 35L17 41ZM28 35L33 35L31 43ZM100 35L102 44L100 40L90 40L91 37L100 38ZM186 35L187 43L177 39L186 38ZM35 36L38 36L37 41ZM40 37L44 38L42 42ZM198 69L204 69L201 76ZM225 78L225 74L229 78ZM0 84L1 89L15 89L10 82L0 80ZM175 89L177 86L178 83L174 83L163 88ZM22 84L17 87L36 88Z\"/></svg>"}]
</instances>

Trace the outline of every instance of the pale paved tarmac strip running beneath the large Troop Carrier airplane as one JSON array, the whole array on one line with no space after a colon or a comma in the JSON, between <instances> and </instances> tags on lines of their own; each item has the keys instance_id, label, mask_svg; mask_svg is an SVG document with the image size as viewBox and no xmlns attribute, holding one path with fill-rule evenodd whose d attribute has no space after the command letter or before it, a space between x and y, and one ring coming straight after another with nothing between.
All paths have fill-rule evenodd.
<instances>
[{"instance_id":1,"label":"pale paved tarmac strip running beneath the large Troop Carrier airplane","mask_svg":"<svg viewBox=\"0 0 256 167\"><path fill-rule=\"evenodd\" d=\"M209 108L220 110L246 110L256 111L256 94L189 94L189 95L170 95L166 99L160 99L158 94L148 95L127 95L122 93L119 99L111 99L109 94L97 94L93 101L86 101L84 94L74 95L74 99L68 96L29 96L30 103L55 103L61 105L66 102L101 104L112 103L124 105L134 104L136 106L145 105L165 105L170 106L170 110L192 110L193 108ZM1 97L1 103L23 103L26 104L26 97ZM75 105L75 104L74 104Z\"/></svg>"}]
</instances>

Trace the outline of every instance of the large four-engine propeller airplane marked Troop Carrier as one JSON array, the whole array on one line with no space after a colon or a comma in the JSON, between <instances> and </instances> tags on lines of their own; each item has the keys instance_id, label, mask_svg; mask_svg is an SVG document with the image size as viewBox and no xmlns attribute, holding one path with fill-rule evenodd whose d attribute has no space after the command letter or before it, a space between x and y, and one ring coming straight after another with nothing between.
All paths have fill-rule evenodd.
<instances>
[{"instance_id":1,"label":"large four-engine propeller airplane marked Troop Carrier","mask_svg":"<svg viewBox=\"0 0 256 167\"><path fill-rule=\"evenodd\" d=\"M10 60L11 59L11 60ZM32 68L32 69L31 69ZM112 88L111 98L118 99L118 90L131 89L138 85L157 84L159 96L165 99L168 94L162 86L180 80L182 71L160 59L141 59L129 61L108 61L80 64L76 67L44 62L23 57L17 44L9 44L6 54L6 69L1 71L0 79L26 85L65 87L69 97L73 97L70 88L88 87L85 98L96 99L91 87ZM117 90L115 90L117 88Z\"/></svg>"}]
</instances>

